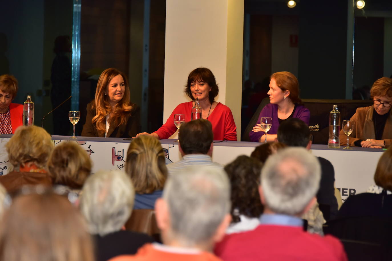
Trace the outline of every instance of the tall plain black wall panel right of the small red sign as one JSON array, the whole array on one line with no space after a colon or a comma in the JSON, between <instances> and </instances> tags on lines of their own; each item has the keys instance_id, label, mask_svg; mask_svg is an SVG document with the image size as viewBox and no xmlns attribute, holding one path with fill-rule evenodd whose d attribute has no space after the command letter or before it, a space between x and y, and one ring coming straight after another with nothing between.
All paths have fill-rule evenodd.
<instances>
[{"instance_id":1,"label":"tall plain black wall panel right of the small red sign","mask_svg":"<svg viewBox=\"0 0 392 261\"><path fill-rule=\"evenodd\" d=\"M347 2L302 0L298 80L301 98L345 99Z\"/></svg>"}]
</instances>

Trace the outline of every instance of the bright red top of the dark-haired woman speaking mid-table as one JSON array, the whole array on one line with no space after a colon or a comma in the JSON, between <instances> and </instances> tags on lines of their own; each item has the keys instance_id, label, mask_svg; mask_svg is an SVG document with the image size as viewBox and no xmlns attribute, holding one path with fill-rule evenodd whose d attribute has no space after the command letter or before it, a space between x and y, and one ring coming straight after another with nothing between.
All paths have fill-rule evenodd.
<instances>
[{"instance_id":1,"label":"bright red top of the dark-haired woman speaking mid-table","mask_svg":"<svg viewBox=\"0 0 392 261\"><path fill-rule=\"evenodd\" d=\"M192 101L178 104L166 123L157 131L154 131L154 133L158 134L160 139L169 139L177 130L177 127L174 125L174 115L184 114L185 122L191 121L192 106ZM208 120L212 124L214 140L227 139L237 141L237 127L229 107L218 103L212 113L208 116Z\"/></svg>"}]
</instances>

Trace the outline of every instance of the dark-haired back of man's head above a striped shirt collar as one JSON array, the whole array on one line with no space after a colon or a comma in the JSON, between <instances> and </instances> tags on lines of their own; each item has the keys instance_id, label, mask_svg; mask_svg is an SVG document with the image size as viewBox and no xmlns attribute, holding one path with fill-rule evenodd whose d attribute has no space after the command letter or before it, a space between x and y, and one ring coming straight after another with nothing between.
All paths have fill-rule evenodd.
<instances>
[{"instance_id":1,"label":"dark-haired back of man's head above a striped shirt collar","mask_svg":"<svg viewBox=\"0 0 392 261\"><path fill-rule=\"evenodd\" d=\"M210 121L197 119L181 124L180 152L187 154L212 154L214 134Z\"/></svg>"}]
</instances>

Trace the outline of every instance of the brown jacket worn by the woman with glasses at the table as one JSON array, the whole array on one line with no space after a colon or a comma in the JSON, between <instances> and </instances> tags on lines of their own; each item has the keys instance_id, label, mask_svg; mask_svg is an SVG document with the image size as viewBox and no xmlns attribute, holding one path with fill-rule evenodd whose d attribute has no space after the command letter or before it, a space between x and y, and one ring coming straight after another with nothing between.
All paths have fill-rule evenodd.
<instances>
[{"instance_id":1,"label":"brown jacket worn by the woman with glasses at the table","mask_svg":"<svg viewBox=\"0 0 392 261\"><path fill-rule=\"evenodd\" d=\"M376 139L373 122L373 108L374 106L358 108L350 121L354 121L354 130L352 131L348 143L350 146L355 146L354 142L357 140ZM385 148L391 145L392 142L392 114L389 112L387 122L385 122L383 140L385 140ZM347 144L347 135L344 134L343 129L340 130L340 145Z\"/></svg>"}]
</instances>

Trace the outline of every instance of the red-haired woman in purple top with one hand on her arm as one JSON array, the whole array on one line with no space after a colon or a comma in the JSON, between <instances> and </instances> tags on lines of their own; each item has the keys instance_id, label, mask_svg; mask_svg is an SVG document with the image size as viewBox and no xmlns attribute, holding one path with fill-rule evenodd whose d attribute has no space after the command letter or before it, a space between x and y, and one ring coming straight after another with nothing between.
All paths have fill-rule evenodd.
<instances>
[{"instance_id":1,"label":"red-haired woman in purple top with one hand on her arm","mask_svg":"<svg viewBox=\"0 0 392 261\"><path fill-rule=\"evenodd\" d=\"M273 142L278 132L279 124L289 118L298 118L309 125L310 112L301 105L299 99L299 84L291 72L276 72L272 74L270 90L267 93L270 104L261 110L258 123L250 131L250 141L264 142L265 133L261 130L261 117L271 117L272 126L267 133L267 142Z\"/></svg>"}]
</instances>

